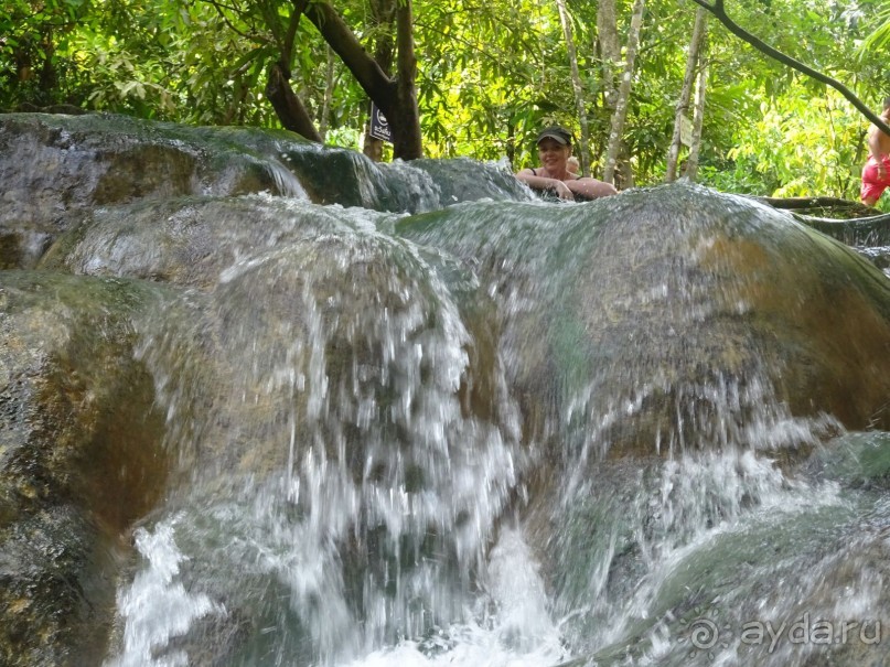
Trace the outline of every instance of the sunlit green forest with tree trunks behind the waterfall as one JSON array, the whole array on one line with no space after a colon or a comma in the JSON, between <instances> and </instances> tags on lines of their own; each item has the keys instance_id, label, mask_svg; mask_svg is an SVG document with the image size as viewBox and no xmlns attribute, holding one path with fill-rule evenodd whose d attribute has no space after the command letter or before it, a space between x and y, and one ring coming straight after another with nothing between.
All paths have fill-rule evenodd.
<instances>
[{"instance_id":1,"label":"sunlit green forest with tree trunks behind the waterfall","mask_svg":"<svg viewBox=\"0 0 890 667\"><path fill-rule=\"evenodd\" d=\"M886 0L723 9L880 111ZM400 128L395 150L366 137L371 97ZM868 129L691 0L4 0L0 109L286 127L376 159L511 169L559 122L620 186L691 165L722 191L848 200Z\"/></svg>"}]
</instances>

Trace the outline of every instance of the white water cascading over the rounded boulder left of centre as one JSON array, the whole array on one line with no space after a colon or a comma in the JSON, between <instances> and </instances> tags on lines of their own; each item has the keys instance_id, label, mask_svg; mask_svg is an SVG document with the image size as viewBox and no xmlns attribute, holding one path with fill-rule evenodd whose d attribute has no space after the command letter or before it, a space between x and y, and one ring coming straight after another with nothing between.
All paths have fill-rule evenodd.
<instances>
[{"instance_id":1,"label":"white water cascading over the rounded boulder left of centre","mask_svg":"<svg viewBox=\"0 0 890 667\"><path fill-rule=\"evenodd\" d=\"M321 218L184 299L139 356L187 488L138 535L110 664L194 664L178 642L218 626L248 637L227 664L336 664L460 621L524 455L503 374L500 422L464 413L470 336L420 250ZM146 604L184 590L196 627Z\"/></svg>"}]
</instances>

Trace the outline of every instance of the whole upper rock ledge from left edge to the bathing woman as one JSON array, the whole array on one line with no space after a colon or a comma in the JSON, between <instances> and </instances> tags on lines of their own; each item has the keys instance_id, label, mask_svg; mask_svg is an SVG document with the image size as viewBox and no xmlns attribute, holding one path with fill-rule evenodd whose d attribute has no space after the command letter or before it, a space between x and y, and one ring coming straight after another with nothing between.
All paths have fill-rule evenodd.
<instances>
[{"instance_id":1,"label":"whole upper rock ledge from left edge to the bathing woman","mask_svg":"<svg viewBox=\"0 0 890 667\"><path fill-rule=\"evenodd\" d=\"M0 268L32 268L94 207L269 193L416 212L530 192L471 161L375 164L287 131L190 128L127 116L0 115Z\"/></svg>"}]
</instances>

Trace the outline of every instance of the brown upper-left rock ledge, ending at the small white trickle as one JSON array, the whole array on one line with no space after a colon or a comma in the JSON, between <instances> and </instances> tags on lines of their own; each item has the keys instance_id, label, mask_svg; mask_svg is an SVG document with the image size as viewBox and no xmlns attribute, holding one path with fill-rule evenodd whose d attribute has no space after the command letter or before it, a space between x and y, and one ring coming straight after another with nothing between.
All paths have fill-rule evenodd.
<instances>
[{"instance_id":1,"label":"brown upper-left rock ledge, ending at the small white trickle","mask_svg":"<svg viewBox=\"0 0 890 667\"><path fill-rule=\"evenodd\" d=\"M33 267L94 206L187 194L299 194L287 169L238 142L249 136L178 131L122 116L0 116L0 266Z\"/></svg>"}]
</instances>

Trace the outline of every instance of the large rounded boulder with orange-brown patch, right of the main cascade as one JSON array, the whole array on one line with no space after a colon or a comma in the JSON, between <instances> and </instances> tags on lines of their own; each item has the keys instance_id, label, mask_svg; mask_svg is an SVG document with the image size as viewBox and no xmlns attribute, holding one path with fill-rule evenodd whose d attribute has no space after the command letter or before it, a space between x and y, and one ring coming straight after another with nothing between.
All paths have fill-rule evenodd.
<instances>
[{"instance_id":1,"label":"large rounded boulder with orange-brown patch, right of the main cascade","mask_svg":"<svg viewBox=\"0 0 890 667\"><path fill-rule=\"evenodd\" d=\"M459 206L397 233L473 266L525 413L549 416L526 434L558 432L582 460L890 426L890 284L785 214L678 184Z\"/></svg>"}]
</instances>

